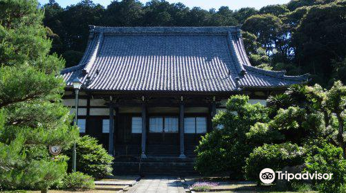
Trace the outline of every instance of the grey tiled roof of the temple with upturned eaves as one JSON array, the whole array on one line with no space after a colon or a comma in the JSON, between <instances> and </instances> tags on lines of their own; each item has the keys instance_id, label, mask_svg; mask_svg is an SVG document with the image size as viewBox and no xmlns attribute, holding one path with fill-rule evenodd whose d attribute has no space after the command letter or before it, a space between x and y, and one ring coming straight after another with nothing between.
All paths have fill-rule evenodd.
<instances>
[{"instance_id":1,"label":"grey tiled roof of the temple with upturned eaves","mask_svg":"<svg viewBox=\"0 0 346 193\"><path fill-rule=\"evenodd\" d=\"M78 66L62 76L102 91L235 91L300 84L251 66L237 27L110 28L91 26Z\"/></svg>"}]
</instances>

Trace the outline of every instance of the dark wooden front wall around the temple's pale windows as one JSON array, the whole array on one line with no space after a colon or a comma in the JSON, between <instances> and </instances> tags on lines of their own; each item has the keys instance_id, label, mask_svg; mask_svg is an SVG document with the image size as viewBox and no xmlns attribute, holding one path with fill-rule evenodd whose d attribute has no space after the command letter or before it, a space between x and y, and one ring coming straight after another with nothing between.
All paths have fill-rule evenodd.
<instances>
[{"instance_id":1,"label":"dark wooden front wall around the temple's pale windows","mask_svg":"<svg viewBox=\"0 0 346 193\"><path fill-rule=\"evenodd\" d=\"M140 116L138 113L119 113L114 125L115 141L114 148L116 156L139 156L141 134L131 133L131 118ZM149 114L158 116L158 114ZM162 116L173 116L165 114ZM177 115L174 115L177 116ZM206 114L191 114L188 116L207 116ZM86 122L86 133L89 136L97 138L105 149L109 146L109 134L102 133L102 120L109 119L108 116L89 116ZM147 121L147 155L148 156L179 156L179 133L151 133L149 132L149 121ZM185 134L185 154L193 157L194 148L198 145L201 136L204 134Z\"/></svg>"}]
</instances>

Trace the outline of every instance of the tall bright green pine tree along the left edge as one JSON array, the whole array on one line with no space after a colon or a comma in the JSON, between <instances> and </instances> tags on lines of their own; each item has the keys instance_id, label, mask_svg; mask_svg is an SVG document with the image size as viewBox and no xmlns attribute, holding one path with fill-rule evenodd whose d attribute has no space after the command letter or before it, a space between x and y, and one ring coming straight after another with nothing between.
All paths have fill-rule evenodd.
<instances>
[{"instance_id":1,"label":"tall bright green pine tree along the left edge","mask_svg":"<svg viewBox=\"0 0 346 193\"><path fill-rule=\"evenodd\" d=\"M68 148L78 137L62 104L64 60L49 55L51 40L36 0L0 0L0 184L48 187L66 173L49 145Z\"/></svg>"}]
</instances>

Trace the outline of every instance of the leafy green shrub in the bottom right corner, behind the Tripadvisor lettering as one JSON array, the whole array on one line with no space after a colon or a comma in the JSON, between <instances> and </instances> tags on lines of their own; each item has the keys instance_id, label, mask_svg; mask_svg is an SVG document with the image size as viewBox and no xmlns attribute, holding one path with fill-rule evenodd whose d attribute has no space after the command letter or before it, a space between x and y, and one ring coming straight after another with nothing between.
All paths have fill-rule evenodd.
<instances>
[{"instance_id":1,"label":"leafy green shrub in the bottom right corner, behind the Tripadvisor lettering","mask_svg":"<svg viewBox=\"0 0 346 193\"><path fill-rule=\"evenodd\" d=\"M331 180L315 181L320 192L346 192L346 160L343 159L343 150L340 147L326 143L323 147L309 154L307 171L333 174Z\"/></svg>"}]
</instances>

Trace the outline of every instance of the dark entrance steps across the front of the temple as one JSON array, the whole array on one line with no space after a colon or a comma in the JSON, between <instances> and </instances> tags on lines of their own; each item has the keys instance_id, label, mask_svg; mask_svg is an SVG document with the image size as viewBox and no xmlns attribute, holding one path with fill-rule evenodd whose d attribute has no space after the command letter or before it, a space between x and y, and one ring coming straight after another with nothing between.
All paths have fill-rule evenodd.
<instances>
[{"instance_id":1,"label":"dark entrance steps across the front of the temple","mask_svg":"<svg viewBox=\"0 0 346 193\"><path fill-rule=\"evenodd\" d=\"M194 170L195 158L168 156L116 157L113 174L175 175L189 176L198 174Z\"/></svg>"}]
</instances>

